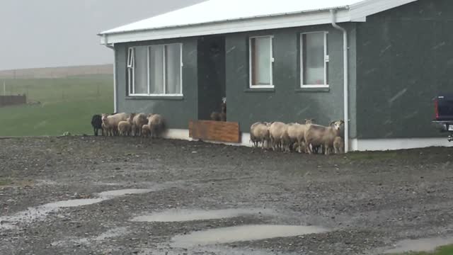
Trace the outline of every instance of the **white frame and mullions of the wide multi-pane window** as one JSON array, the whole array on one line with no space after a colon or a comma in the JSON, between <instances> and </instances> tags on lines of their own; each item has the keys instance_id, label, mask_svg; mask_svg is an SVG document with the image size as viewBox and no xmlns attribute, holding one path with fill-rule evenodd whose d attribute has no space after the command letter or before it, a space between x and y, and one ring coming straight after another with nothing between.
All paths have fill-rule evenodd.
<instances>
[{"instance_id":1,"label":"white frame and mullions of the wide multi-pane window","mask_svg":"<svg viewBox=\"0 0 453 255\"><path fill-rule=\"evenodd\" d=\"M179 69L179 74L180 74L180 91L177 94L166 94L166 55L165 55L165 49L167 45L179 45L180 46L180 69ZM149 92L149 49L153 46L164 46L164 50L162 51L162 59L164 60L163 66L163 72L164 72L164 93L163 94L150 94ZM141 47L141 46L140 46ZM144 47L147 47L147 85L148 85L148 93L147 94L135 94L135 48L136 47L129 47L127 50L127 74L128 74L128 86L129 86L129 94L128 96L156 96L156 97L166 97L166 96L183 96L183 44L180 42L176 43L166 43L166 44L160 44L160 45L144 45ZM132 57L131 57L132 54Z\"/></svg>"}]
</instances>

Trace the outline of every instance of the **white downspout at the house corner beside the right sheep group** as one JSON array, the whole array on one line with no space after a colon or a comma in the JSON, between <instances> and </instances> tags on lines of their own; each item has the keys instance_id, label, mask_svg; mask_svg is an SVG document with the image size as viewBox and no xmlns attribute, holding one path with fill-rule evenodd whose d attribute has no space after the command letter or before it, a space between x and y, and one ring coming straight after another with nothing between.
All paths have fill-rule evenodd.
<instances>
[{"instance_id":1,"label":"white downspout at the house corner beside the right sheep group","mask_svg":"<svg viewBox=\"0 0 453 255\"><path fill-rule=\"evenodd\" d=\"M349 152L349 67L348 67L348 31L336 23L336 11L331 9L332 26L343 31L343 111L345 120L345 152Z\"/></svg>"}]
</instances>

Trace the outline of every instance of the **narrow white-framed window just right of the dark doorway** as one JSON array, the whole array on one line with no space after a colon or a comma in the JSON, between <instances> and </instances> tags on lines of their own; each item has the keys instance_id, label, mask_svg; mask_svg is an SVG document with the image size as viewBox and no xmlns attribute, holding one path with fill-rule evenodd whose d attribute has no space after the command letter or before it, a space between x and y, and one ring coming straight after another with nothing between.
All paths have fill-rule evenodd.
<instances>
[{"instance_id":1,"label":"narrow white-framed window just right of the dark doorway","mask_svg":"<svg viewBox=\"0 0 453 255\"><path fill-rule=\"evenodd\" d=\"M272 40L272 36L261 36L249 40L251 88L273 88Z\"/></svg>"}]
</instances>

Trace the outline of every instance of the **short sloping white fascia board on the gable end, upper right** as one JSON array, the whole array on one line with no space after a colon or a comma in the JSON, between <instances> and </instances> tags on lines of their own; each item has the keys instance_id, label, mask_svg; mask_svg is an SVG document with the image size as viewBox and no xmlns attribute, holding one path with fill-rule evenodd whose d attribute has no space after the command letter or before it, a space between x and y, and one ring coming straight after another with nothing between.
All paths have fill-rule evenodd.
<instances>
[{"instance_id":1,"label":"short sloping white fascia board on the gable end, upper right","mask_svg":"<svg viewBox=\"0 0 453 255\"><path fill-rule=\"evenodd\" d=\"M367 17L382 11L390 10L404 4L418 0L367 0L350 6L350 17L352 20Z\"/></svg>"}]
</instances>

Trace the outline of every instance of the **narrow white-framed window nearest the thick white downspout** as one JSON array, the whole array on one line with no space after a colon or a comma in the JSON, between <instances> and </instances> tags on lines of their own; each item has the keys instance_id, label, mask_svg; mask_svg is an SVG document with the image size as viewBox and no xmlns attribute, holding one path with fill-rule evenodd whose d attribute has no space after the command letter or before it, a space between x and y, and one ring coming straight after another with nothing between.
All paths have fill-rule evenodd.
<instances>
[{"instance_id":1,"label":"narrow white-framed window nearest the thick white downspout","mask_svg":"<svg viewBox=\"0 0 453 255\"><path fill-rule=\"evenodd\" d=\"M328 87L327 32L303 33L301 48L301 87Z\"/></svg>"}]
</instances>

